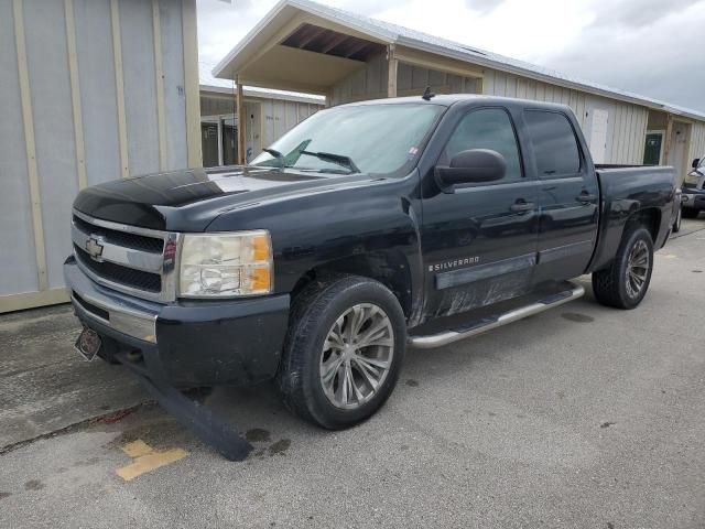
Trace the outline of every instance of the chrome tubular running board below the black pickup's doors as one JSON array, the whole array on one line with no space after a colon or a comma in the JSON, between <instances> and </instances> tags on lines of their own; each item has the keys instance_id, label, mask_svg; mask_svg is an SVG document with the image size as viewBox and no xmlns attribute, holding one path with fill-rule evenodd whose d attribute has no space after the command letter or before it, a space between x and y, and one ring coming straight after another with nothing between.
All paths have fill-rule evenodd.
<instances>
[{"instance_id":1,"label":"chrome tubular running board below the black pickup's doors","mask_svg":"<svg viewBox=\"0 0 705 529\"><path fill-rule=\"evenodd\" d=\"M426 336L409 336L408 343L410 346L419 349L441 347L443 345L452 344L453 342L469 338L470 336L477 336L478 334L523 320L524 317L539 314L540 312L547 311L549 309L562 305L568 301L577 300L585 294L585 289L579 284L571 283L571 285L573 287L571 290L551 294L534 303L519 309L513 309L502 314L476 320L459 328L447 330L438 334L430 334Z\"/></svg>"}]
</instances>

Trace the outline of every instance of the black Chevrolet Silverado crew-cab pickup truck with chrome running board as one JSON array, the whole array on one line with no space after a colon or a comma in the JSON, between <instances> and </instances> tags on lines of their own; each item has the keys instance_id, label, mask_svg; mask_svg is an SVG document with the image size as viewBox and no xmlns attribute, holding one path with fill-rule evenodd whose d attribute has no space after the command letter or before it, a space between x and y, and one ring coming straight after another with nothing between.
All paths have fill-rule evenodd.
<instances>
[{"instance_id":1,"label":"black Chevrolet Silverado crew-cab pickup truck with chrome running board","mask_svg":"<svg viewBox=\"0 0 705 529\"><path fill-rule=\"evenodd\" d=\"M390 396L408 345L565 303L585 273L600 303L637 306L674 176L596 166L560 105L426 95L323 110L250 165L80 192L65 263L77 348L158 397L275 379L304 419L349 427Z\"/></svg>"}]
</instances>

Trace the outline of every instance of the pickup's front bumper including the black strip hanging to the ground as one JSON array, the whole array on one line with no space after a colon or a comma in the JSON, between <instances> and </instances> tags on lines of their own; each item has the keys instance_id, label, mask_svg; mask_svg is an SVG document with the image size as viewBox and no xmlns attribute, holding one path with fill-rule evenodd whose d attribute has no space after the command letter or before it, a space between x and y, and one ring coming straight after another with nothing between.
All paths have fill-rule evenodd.
<instances>
[{"instance_id":1,"label":"pickup's front bumper including the black strip hanging to the ground","mask_svg":"<svg viewBox=\"0 0 705 529\"><path fill-rule=\"evenodd\" d=\"M251 446L177 386L251 385L279 368L289 295L160 304L91 281L73 258L64 277L76 316L102 339L104 358L130 368L160 404L229 460Z\"/></svg>"}]
</instances>

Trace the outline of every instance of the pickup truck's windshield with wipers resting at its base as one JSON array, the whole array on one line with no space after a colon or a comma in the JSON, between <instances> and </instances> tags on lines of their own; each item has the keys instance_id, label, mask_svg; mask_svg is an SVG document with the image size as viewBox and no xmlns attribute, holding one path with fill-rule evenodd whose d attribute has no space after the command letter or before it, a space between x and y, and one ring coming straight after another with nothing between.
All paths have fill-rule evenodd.
<instances>
[{"instance_id":1,"label":"pickup truck's windshield with wipers resting at its base","mask_svg":"<svg viewBox=\"0 0 705 529\"><path fill-rule=\"evenodd\" d=\"M394 173L415 159L444 107L357 105L321 110L276 140L252 165L326 173Z\"/></svg>"}]
</instances>

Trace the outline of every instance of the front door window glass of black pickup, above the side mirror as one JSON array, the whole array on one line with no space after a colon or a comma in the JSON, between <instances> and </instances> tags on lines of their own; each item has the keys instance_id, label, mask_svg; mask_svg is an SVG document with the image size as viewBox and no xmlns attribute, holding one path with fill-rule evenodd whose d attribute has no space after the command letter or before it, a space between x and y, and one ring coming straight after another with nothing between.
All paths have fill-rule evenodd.
<instances>
[{"instance_id":1,"label":"front door window glass of black pickup, above the side mirror","mask_svg":"<svg viewBox=\"0 0 705 529\"><path fill-rule=\"evenodd\" d=\"M458 152L468 149L491 149L505 156L507 174L501 182L521 179L517 137L506 110L481 108L470 111L453 132L442 159L447 163Z\"/></svg>"}]
</instances>

